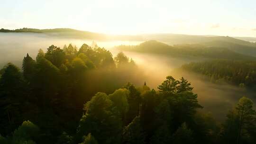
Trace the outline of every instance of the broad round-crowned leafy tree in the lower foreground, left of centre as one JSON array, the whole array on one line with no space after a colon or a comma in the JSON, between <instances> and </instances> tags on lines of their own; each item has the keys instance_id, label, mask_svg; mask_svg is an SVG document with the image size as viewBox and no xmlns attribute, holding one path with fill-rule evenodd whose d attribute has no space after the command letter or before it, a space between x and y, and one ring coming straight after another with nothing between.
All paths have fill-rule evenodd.
<instances>
[{"instance_id":1,"label":"broad round-crowned leafy tree in the lower foreground, left of centre","mask_svg":"<svg viewBox=\"0 0 256 144\"><path fill-rule=\"evenodd\" d=\"M121 119L113 102L105 93L97 93L88 101L78 127L78 135L94 135L100 144L119 143Z\"/></svg>"}]
</instances>

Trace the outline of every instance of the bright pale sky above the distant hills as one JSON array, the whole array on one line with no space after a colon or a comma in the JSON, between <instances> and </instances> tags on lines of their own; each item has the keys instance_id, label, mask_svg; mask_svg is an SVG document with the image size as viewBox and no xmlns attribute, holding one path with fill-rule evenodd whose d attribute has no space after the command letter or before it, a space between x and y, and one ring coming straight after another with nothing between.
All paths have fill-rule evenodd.
<instances>
[{"instance_id":1,"label":"bright pale sky above the distant hills","mask_svg":"<svg viewBox=\"0 0 256 144\"><path fill-rule=\"evenodd\" d=\"M256 37L256 0L0 0L0 28Z\"/></svg>"}]
</instances>

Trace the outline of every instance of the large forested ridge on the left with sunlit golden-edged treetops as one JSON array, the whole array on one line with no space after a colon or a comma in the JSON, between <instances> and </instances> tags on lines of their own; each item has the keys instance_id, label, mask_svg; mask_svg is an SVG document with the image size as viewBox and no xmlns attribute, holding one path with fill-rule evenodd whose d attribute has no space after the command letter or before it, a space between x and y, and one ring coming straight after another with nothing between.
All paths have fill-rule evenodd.
<instances>
[{"instance_id":1,"label":"large forested ridge on the left with sunlit golden-edged treetops","mask_svg":"<svg viewBox=\"0 0 256 144\"><path fill-rule=\"evenodd\" d=\"M76 132L83 104L95 93L112 93L137 75L143 79L132 59L98 46L51 45L36 60L27 54L22 71L12 63L0 70L0 134L30 120L41 129L39 144L55 144L63 131Z\"/></svg>"}]
</instances>

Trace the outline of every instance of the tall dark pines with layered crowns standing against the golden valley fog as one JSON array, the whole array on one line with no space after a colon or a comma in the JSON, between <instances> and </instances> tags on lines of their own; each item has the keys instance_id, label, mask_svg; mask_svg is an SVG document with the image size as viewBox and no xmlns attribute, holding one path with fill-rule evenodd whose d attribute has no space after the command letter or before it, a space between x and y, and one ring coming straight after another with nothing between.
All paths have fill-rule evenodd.
<instances>
[{"instance_id":1,"label":"tall dark pines with layered crowns standing against the golden valley fog","mask_svg":"<svg viewBox=\"0 0 256 144\"><path fill-rule=\"evenodd\" d=\"M174 129L183 122L192 122L196 110L202 108L198 103L197 94L191 91L193 88L184 78L182 78L181 81L176 81L172 76L167 76L166 80L158 86L158 89L162 97L160 104L164 104L164 108L167 108L167 110L168 107L172 109L171 115L173 117L166 117L173 119ZM166 100L169 104L166 103ZM159 105L159 107L160 106L161 105ZM161 111L158 111L158 113L159 112Z\"/></svg>"}]
</instances>

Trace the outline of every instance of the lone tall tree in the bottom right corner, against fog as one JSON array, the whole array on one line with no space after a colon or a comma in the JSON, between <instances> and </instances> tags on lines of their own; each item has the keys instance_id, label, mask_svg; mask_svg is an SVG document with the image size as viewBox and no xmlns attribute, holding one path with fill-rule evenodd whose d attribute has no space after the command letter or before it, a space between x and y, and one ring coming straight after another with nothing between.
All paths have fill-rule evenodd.
<instances>
[{"instance_id":1,"label":"lone tall tree in the bottom right corner, against fog","mask_svg":"<svg viewBox=\"0 0 256 144\"><path fill-rule=\"evenodd\" d=\"M256 134L256 111L253 101L246 97L239 99L236 107L227 115L223 137L226 142L252 143ZM233 139L236 137L236 139Z\"/></svg>"}]
</instances>

